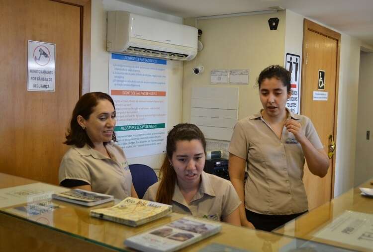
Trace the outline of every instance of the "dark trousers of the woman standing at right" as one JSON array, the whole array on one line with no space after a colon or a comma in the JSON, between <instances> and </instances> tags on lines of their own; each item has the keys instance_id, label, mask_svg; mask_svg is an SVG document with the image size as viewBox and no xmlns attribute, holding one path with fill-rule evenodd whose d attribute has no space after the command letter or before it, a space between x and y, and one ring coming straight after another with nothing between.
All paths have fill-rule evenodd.
<instances>
[{"instance_id":1,"label":"dark trousers of the woman standing at right","mask_svg":"<svg viewBox=\"0 0 373 252\"><path fill-rule=\"evenodd\" d=\"M246 219L250 221L256 229L270 232L306 212L308 211L288 215L267 215L258 214L246 209Z\"/></svg>"}]
</instances>

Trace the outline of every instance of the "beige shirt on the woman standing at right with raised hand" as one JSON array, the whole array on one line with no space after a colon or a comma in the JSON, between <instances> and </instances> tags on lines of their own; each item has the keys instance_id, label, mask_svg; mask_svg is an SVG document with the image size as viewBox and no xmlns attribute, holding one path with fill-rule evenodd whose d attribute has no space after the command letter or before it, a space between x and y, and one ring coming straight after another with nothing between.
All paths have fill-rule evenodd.
<instances>
[{"instance_id":1,"label":"beige shirt on the woman standing at right with raised hand","mask_svg":"<svg viewBox=\"0 0 373 252\"><path fill-rule=\"evenodd\" d=\"M311 120L288 111L288 119L300 123L305 136L317 149L323 148ZM303 178L304 154L295 136L282 129L279 139L261 113L244 118L234 127L228 152L246 160L246 209L269 215L308 210Z\"/></svg>"}]
</instances>

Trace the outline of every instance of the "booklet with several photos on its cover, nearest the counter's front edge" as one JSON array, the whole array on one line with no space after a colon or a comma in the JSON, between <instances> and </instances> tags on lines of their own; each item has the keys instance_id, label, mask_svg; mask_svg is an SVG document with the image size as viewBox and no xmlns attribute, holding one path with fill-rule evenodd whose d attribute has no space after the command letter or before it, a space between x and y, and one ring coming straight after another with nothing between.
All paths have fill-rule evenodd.
<instances>
[{"instance_id":1,"label":"booklet with several photos on its cover, nearest the counter's front edge","mask_svg":"<svg viewBox=\"0 0 373 252\"><path fill-rule=\"evenodd\" d=\"M221 230L218 222L184 217L151 231L132 236L124 245L143 252L172 252L185 248Z\"/></svg>"}]
</instances>

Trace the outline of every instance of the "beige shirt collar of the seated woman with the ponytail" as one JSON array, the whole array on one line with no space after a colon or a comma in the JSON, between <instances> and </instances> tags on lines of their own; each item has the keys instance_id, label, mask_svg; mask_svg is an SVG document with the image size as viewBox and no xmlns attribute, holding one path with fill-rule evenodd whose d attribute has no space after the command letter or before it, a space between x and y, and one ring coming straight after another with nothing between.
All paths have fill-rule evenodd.
<instances>
[{"instance_id":1,"label":"beige shirt collar of the seated woman with the ponytail","mask_svg":"<svg viewBox=\"0 0 373 252\"><path fill-rule=\"evenodd\" d=\"M202 198L204 194L215 197L215 191L212 188L210 178L204 171L202 171L201 183L199 185L199 189L190 202ZM174 190L174 195L172 196L172 200L187 206L187 202L183 196L183 193L180 191L180 188L177 182L175 183L175 190Z\"/></svg>"}]
</instances>

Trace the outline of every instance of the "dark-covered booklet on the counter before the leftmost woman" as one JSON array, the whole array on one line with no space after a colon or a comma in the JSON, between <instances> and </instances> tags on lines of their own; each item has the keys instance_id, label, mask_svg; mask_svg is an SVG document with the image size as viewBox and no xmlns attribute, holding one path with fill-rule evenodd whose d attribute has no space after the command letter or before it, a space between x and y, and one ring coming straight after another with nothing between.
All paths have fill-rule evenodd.
<instances>
[{"instance_id":1,"label":"dark-covered booklet on the counter before the leftmost woman","mask_svg":"<svg viewBox=\"0 0 373 252\"><path fill-rule=\"evenodd\" d=\"M114 200L114 197L98 192L73 189L66 192L52 194L52 198L83 206L95 206Z\"/></svg>"}]
</instances>

